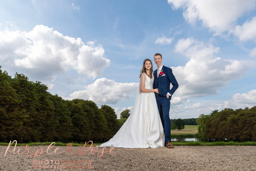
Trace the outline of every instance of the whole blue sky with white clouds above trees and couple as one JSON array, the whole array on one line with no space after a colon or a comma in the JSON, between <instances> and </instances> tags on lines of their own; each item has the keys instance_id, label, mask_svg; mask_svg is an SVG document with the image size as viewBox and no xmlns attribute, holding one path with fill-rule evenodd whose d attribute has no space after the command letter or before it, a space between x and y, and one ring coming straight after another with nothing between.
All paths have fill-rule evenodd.
<instances>
[{"instance_id":1,"label":"whole blue sky with white clouds above trees and couple","mask_svg":"<svg viewBox=\"0 0 256 171\"><path fill-rule=\"evenodd\" d=\"M143 60L161 53L179 83L170 118L251 107L255 7L255 0L1 1L0 65L120 116L132 109Z\"/></svg>"}]
</instances>

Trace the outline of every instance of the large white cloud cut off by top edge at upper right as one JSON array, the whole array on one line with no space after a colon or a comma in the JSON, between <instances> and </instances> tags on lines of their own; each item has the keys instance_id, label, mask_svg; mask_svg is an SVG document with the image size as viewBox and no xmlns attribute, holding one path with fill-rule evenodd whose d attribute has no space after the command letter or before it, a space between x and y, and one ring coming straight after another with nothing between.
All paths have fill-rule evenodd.
<instances>
[{"instance_id":1,"label":"large white cloud cut off by top edge at upper right","mask_svg":"<svg viewBox=\"0 0 256 171\"><path fill-rule=\"evenodd\" d=\"M197 20L216 33L230 30L238 17L255 8L255 0L168 0L173 9L183 9L183 17L195 25Z\"/></svg>"}]
</instances>

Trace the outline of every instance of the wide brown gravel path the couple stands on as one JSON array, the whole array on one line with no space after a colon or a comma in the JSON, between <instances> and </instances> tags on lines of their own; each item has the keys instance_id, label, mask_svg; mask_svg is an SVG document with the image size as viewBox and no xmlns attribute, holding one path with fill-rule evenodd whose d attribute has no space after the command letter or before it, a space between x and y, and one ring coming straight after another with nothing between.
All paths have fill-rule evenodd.
<instances>
[{"instance_id":1,"label":"wide brown gravel path the couple stands on","mask_svg":"<svg viewBox=\"0 0 256 171\"><path fill-rule=\"evenodd\" d=\"M38 148L46 151L48 146L29 146L29 154L33 154ZM54 146L49 152L53 152L56 147L57 152L64 151L65 146ZM20 153L25 151L25 146L16 146L16 151L20 148ZM71 147L72 152L82 147ZM27 156L27 154L13 154L7 152L7 146L0 146L0 169L1 170L256 170L256 146L175 146L174 149L166 147L159 148L116 148L112 151L115 154L104 153L101 157L94 154L80 155L76 153L69 155L68 151L60 154L42 153L40 156ZM10 147L12 150L13 147ZM85 147L85 152L89 147ZM98 148L102 150L103 148ZM11 151L10 150L10 151ZM105 151L109 151L106 148ZM81 150L80 150L81 151ZM26 152L27 153L27 152ZM85 153L84 153L85 154ZM37 163L33 164L33 160ZM43 164L38 164L38 160ZM53 160L53 164L51 161ZM55 164L65 161L65 164ZM60 168L60 166L70 166L67 161L73 161L79 166L89 168ZM49 161L49 165L44 162ZM87 164L83 164L83 161ZM91 164L89 163L91 162ZM63 161L62 161L63 162ZM52 168L39 168L49 166ZM86 166L87 165L87 166ZM38 168L33 168L38 166ZM54 168L55 167L55 168ZM93 167L93 168L90 168Z\"/></svg>"}]
</instances>

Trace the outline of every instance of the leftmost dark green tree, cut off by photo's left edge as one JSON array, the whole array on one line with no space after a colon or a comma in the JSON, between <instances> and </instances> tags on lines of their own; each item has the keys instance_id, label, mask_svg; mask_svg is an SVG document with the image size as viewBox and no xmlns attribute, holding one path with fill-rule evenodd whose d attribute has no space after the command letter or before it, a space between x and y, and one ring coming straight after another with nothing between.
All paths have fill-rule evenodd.
<instances>
[{"instance_id":1,"label":"leftmost dark green tree, cut off by photo's left edge","mask_svg":"<svg viewBox=\"0 0 256 171\"><path fill-rule=\"evenodd\" d=\"M12 78L6 71L2 72L0 66L0 141L23 142L26 132L24 123L28 114L20 107L22 101L10 84L11 81Z\"/></svg>"}]
</instances>

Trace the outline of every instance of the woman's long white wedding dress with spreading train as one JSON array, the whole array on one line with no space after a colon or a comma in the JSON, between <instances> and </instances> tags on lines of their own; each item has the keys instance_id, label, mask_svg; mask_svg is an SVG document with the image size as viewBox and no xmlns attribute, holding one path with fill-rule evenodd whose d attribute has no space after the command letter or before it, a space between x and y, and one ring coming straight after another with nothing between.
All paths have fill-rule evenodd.
<instances>
[{"instance_id":1,"label":"woman's long white wedding dress with spreading train","mask_svg":"<svg viewBox=\"0 0 256 171\"><path fill-rule=\"evenodd\" d=\"M153 89L153 80L147 75L145 89ZM154 92L140 93L140 86L138 91L131 115L113 138L97 147L164 147L164 129L159 116L155 94Z\"/></svg>"}]
</instances>

